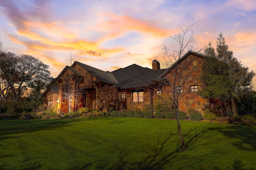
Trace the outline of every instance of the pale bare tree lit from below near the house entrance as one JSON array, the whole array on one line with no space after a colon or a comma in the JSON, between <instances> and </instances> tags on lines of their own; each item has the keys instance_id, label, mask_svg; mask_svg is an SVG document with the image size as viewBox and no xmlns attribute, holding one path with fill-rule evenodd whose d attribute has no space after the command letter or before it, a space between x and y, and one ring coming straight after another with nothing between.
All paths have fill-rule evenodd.
<instances>
[{"instance_id":1,"label":"pale bare tree lit from below near the house entrance","mask_svg":"<svg viewBox=\"0 0 256 170\"><path fill-rule=\"evenodd\" d=\"M79 84L83 79L82 74L80 74L73 66L75 61L79 61L80 58L73 52L66 57L66 74L62 77L62 100L68 101L68 114L71 111L71 102L74 102L75 111L77 105L77 99L82 96L83 91L79 88ZM73 109L72 109L73 110Z\"/></svg>"}]
</instances>

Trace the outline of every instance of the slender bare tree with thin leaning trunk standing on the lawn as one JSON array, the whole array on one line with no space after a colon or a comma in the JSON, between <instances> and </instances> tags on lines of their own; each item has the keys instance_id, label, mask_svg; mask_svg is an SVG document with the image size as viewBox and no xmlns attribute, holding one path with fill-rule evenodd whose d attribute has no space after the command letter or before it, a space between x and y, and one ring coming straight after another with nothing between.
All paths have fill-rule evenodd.
<instances>
[{"instance_id":1,"label":"slender bare tree with thin leaning trunk standing on the lawn","mask_svg":"<svg viewBox=\"0 0 256 170\"><path fill-rule=\"evenodd\" d=\"M160 77L162 80L158 81L158 86L169 86L170 94L172 94L174 100L174 113L176 115L176 121L178 125L178 132L180 136L180 143L183 151L186 151L186 146L184 144L182 131L180 127L179 119L179 103L186 94L187 88L183 88L186 83L191 80L192 73L197 69L200 62L196 61L197 57L184 56L188 51L196 51L198 55L204 49L196 49L193 45L196 43L193 28L198 24L198 21L194 21L191 25L182 30L178 35L172 36L172 41L176 41L179 45L179 49L175 49L172 53L169 53L168 47L164 45L163 50L163 61L162 63L170 66L167 71ZM189 68L193 64L192 69ZM164 99L162 99L164 100ZM165 102L167 104L167 102ZM170 107L170 109L172 109Z\"/></svg>"}]
</instances>

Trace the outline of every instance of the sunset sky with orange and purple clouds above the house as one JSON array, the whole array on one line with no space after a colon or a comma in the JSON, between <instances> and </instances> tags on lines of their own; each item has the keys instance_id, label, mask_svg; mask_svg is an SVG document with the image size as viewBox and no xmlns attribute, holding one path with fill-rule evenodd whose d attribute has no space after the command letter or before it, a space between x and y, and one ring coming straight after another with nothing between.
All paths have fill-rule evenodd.
<instances>
[{"instance_id":1,"label":"sunset sky with orange and purple clouds above the house","mask_svg":"<svg viewBox=\"0 0 256 170\"><path fill-rule=\"evenodd\" d=\"M163 45L196 21L196 50L219 33L234 57L256 72L255 0L0 0L0 41L16 55L32 55L58 76L70 54L104 71L131 64L152 68ZM182 29L181 29L182 28ZM188 37L191 33L186 34ZM256 76L253 79L256 86ZM256 87L254 87L256 90Z\"/></svg>"}]
</instances>

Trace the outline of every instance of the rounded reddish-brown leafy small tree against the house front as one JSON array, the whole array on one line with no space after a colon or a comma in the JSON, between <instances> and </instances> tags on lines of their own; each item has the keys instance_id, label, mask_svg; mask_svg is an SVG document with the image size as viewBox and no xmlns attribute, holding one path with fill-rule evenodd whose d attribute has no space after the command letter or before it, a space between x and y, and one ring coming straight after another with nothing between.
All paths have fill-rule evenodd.
<instances>
[{"instance_id":1,"label":"rounded reddish-brown leafy small tree against the house front","mask_svg":"<svg viewBox=\"0 0 256 170\"><path fill-rule=\"evenodd\" d=\"M118 95L117 88L111 86L100 87L98 96L100 108L104 108L108 111L110 107L115 107L119 102Z\"/></svg>"}]
</instances>

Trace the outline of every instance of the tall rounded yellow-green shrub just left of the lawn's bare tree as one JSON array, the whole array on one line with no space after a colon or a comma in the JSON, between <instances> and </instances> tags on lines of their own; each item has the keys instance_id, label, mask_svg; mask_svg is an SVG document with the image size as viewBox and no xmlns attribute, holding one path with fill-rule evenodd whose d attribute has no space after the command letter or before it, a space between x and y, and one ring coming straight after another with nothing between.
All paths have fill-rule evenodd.
<instances>
[{"instance_id":1,"label":"tall rounded yellow-green shrub just left of the lawn's bare tree","mask_svg":"<svg viewBox=\"0 0 256 170\"><path fill-rule=\"evenodd\" d=\"M170 111L174 107L173 99L167 94L160 94L154 99L153 106L156 112Z\"/></svg>"}]
</instances>

